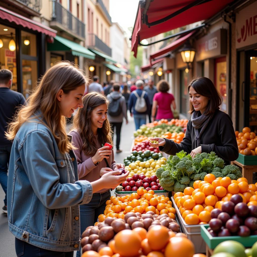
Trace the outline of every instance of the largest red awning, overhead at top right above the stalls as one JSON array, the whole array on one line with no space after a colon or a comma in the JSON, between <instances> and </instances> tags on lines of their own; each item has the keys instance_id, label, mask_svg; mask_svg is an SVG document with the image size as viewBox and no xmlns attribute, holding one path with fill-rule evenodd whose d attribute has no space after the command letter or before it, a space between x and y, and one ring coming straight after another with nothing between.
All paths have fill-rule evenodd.
<instances>
[{"instance_id":1,"label":"largest red awning, overhead at top right above the stalls","mask_svg":"<svg viewBox=\"0 0 257 257\"><path fill-rule=\"evenodd\" d=\"M217 14L219 11L223 10L229 3L233 0L212 0L204 2L203 4L198 4L189 8L188 10L176 15L175 17L164 21L160 24L148 26L142 23L143 13L146 11L148 17L148 22L158 21L167 17L168 15L179 11L181 8L193 3L192 0L177 0L177 1L167 1L167 0L154 0L152 2L146 0L146 4L149 4L149 8L146 11L145 8L141 8L138 5L136 20L131 36L131 46L134 56L137 54L137 45L139 41L143 39L151 38L152 36L182 27L197 21L202 21L209 19L210 17ZM145 17L144 17L145 18Z\"/></svg>"}]
</instances>

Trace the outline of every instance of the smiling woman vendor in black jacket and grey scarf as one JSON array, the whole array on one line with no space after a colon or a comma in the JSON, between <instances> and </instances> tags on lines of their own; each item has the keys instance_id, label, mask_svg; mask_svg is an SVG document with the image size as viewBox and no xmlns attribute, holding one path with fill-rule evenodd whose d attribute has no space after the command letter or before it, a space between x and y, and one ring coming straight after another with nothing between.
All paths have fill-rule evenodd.
<instances>
[{"instance_id":1,"label":"smiling woman vendor in black jacket and grey scarf","mask_svg":"<svg viewBox=\"0 0 257 257\"><path fill-rule=\"evenodd\" d=\"M170 155L184 150L192 158L197 153L215 152L230 164L238 157L238 148L233 123L226 113L219 110L222 97L213 82L205 77L193 79L188 85L191 120L188 121L186 135L178 144L160 137L153 138L158 144L150 145Z\"/></svg>"}]
</instances>

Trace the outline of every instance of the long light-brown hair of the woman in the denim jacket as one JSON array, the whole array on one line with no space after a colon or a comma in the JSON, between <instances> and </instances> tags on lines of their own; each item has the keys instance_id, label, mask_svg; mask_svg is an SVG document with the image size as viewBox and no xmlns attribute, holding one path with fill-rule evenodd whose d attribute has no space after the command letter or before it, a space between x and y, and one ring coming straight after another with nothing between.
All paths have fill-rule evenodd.
<instances>
[{"instance_id":1,"label":"long light-brown hair of the woman in the denim jacket","mask_svg":"<svg viewBox=\"0 0 257 257\"><path fill-rule=\"evenodd\" d=\"M86 82L82 71L70 62L61 61L53 65L27 99L27 105L20 109L9 124L6 137L13 140L23 123L36 118L50 129L61 153L71 150L72 144L66 134L66 119L61 115L57 93L62 89L64 94L68 94ZM41 111L42 117L37 116L37 111Z\"/></svg>"}]
</instances>

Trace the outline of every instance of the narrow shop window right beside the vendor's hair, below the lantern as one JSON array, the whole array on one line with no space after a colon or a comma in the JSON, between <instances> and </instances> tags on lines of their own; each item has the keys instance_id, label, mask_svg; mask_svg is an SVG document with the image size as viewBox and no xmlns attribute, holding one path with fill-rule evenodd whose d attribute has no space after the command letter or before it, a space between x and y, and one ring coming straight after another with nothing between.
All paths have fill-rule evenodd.
<instances>
[{"instance_id":1,"label":"narrow shop window right beside the vendor's hair, below the lantern","mask_svg":"<svg viewBox=\"0 0 257 257\"><path fill-rule=\"evenodd\" d=\"M189 72L185 69L180 70L180 112L188 116L189 111Z\"/></svg>"}]
</instances>

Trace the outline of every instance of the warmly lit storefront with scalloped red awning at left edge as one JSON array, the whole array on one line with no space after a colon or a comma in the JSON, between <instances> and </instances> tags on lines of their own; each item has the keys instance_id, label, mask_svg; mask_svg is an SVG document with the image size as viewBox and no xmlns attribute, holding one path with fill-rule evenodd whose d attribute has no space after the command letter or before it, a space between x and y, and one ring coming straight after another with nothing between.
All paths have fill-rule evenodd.
<instances>
[{"instance_id":1,"label":"warmly lit storefront with scalloped red awning at left edge","mask_svg":"<svg viewBox=\"0 0 257 257\"><path fill-rule=\"evenodd\" d=\"M46 69L46 36L55 35L55 30L0 7L0 69L13 72L12 90L30 95Z\"/></svg>"}]
</instances>

